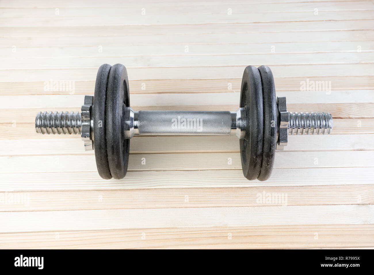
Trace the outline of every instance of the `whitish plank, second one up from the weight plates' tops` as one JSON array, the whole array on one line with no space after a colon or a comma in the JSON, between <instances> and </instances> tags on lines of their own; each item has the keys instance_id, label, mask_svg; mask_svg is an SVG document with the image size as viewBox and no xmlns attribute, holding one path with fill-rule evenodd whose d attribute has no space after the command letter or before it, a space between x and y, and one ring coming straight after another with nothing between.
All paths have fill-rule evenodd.
<instances>
[{"instance_id":1,"label":"whitish plank, second one up from the weight plates' tops","mask_svg":"<svg viewBox=\"0 0 374 275\"><path fill-rule=\"evenodd\" d=\"M311 54L327 52L373 52L372 41L341 42L283 42L283 43L222 43L195 44L188 47L188 56L193 55L258 55L258 54ZM10 55L9 48L0 48L1 58L46 58L46 57L120 57L120 56L170 56L186 55L180 45L123 45L105 46L99 51L98 46L78 47L16 47L15 55Z\"/></svg>"}]
</instances>

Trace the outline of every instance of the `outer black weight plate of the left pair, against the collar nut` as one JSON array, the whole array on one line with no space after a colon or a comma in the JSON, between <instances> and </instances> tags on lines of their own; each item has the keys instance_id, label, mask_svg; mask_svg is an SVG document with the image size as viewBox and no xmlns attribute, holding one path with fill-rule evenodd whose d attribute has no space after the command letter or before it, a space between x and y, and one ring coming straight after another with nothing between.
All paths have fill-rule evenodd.
<instances>
[{"instance_id":1,"label":"outer black weight plate of the left pair, against the collar nut","mask_svg":"<svg viewBox=\"0 0 374 275\"><path fill-rule=\"evenodd\" d=\"M108 76L111 65L102 64L96 75L95 95L93 97L93 146L95 148L96 167L100 177L105 180L112 178L107 155L105 127L105 100L107 97Z\"/></svg>"}]
</instances>

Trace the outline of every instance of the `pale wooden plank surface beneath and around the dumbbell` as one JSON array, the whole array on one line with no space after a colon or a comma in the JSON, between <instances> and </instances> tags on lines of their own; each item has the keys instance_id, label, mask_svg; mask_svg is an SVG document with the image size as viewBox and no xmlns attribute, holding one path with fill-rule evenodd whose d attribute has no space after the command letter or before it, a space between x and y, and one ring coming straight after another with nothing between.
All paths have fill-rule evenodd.
<instances>
[{"instance_id":1,"label":"pale wooden plank surface beneath and around the dumbbell","mask_svg":"<svg viewBox=\"0 0 374 275\"><path fill-rule=\"evenodd\" d=\"M0 248L374 247L373 1L124 2L0 1ZM127 176L102 180L79 137L34 119L80 110L103 63L126 65L135 110L236 110L244 68L269 65L333 135L289 137L266 182L236 137L135 137Z\"/></svg>"}]
</instances>

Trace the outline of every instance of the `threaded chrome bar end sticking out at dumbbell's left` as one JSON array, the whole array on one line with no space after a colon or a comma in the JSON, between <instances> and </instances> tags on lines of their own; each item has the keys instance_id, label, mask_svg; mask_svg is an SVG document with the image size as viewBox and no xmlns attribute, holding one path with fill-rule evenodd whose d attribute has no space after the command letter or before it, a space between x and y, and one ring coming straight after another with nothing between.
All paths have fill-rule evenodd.
<instances>
[{"instance_id":1,"label":"threaded chrome bar end sticking out at dumbbell's left","mask_svg":"<svg viewBox=\"0 0 374 275\"><path fill-rule=\"evenodd\" d=\"M35 118L35 129L41 134L80 134L82 117L80 112L39 112Z\"/></svg>"}]
</instances>

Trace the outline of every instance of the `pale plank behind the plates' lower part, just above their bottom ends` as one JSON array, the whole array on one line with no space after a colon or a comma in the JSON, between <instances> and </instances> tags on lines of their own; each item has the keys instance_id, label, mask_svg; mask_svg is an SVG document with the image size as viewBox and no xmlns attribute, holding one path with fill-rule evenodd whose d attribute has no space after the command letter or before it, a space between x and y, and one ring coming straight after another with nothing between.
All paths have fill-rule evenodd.
<instances>
[{"instance_id":1,"label":"pale plank behind the plates' lower part, just above their bottom ends","mask_svg":"<svg viewBox=\"0 0 374 275\"><path fill-rule=\"evenodd\" d=\"M274 163L274 168L331 167L374 167L373 151L278 152ZM128 171L241 169L242 164L239 153L131 154L128 166ZM93 172L96 171L95 156L0 156L0 173L35 173L45 171Z\"/></svg>"}]
</instances>

